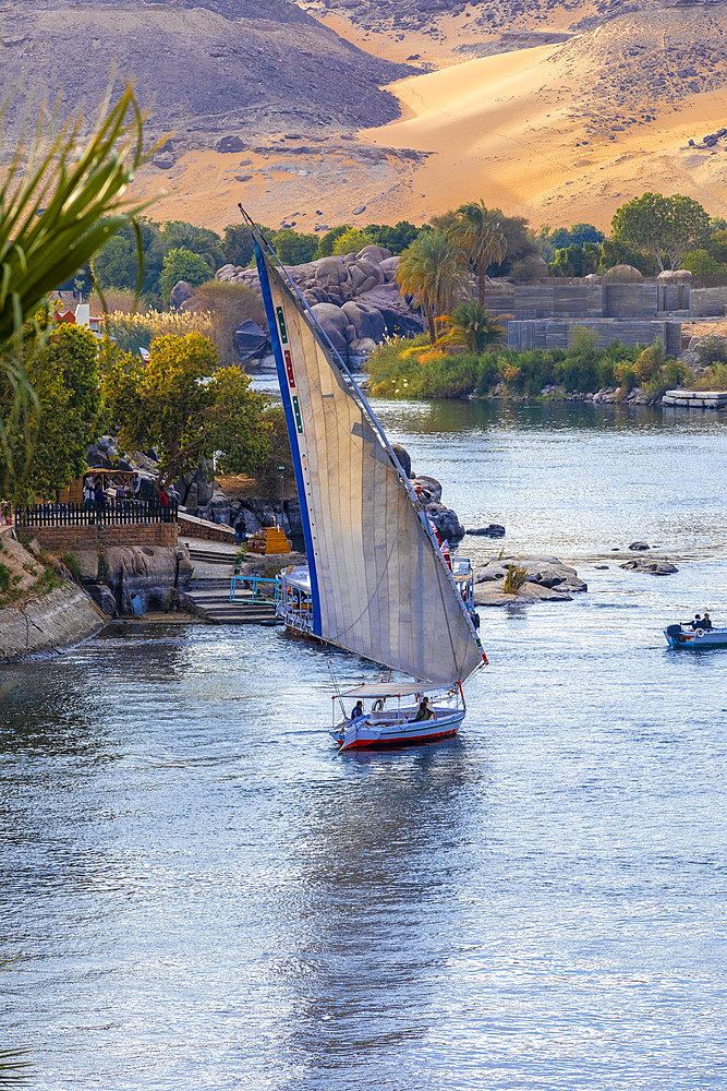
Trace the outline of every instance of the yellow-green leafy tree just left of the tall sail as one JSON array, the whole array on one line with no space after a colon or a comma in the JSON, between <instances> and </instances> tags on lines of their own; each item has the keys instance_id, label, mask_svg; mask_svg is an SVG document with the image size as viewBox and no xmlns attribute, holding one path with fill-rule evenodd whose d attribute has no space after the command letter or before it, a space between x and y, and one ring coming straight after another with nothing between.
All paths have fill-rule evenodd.
<instances>
[{"instance_id":1,"label":"yellow-green leafy tree just left of the tall sail","mask_svg":"<svg viewBox=\"0 0 727 1091\"><path fill-rule=\"evenodd\" d=\"M265 397L239 368L219 368L201 334L152 343L148 363L117 353L104 375L109 413L128 451L157 448L159 484L217 454L229 472L251 472L267 455Z\"/></svg>"}]
</instances>

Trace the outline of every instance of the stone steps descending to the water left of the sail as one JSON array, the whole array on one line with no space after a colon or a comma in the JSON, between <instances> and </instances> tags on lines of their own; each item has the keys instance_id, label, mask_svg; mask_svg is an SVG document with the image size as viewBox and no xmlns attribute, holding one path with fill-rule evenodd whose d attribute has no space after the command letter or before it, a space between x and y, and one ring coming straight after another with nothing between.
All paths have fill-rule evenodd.
<instances>
[{"instance_id":1,"label":"stone steps descending to the water left of the sail","mask_svg":"<svg viewBox=\"0 0 727 1091\"><path fill-rule=\"evenodd\" d=\"M277 625L272 602L252 601L252 591L238 588L230 602L235 550L207 541L185 541L194 565L190 590L182 604L210 625Z\"/></svg>"}]
</instances>

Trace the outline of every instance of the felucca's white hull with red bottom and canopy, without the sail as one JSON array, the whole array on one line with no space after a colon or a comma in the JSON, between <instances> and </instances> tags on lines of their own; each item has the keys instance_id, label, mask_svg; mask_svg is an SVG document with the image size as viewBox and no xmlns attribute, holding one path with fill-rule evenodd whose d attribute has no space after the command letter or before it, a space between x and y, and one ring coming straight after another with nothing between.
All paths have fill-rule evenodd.
<instances>
[{"instance_id":1,"label":"felucca's white hull with red bottom and canopy, without the sail","mask_svg":"<svg viewBox=\"0 0 727 1091\"><path fill-rule=\"evenodd\" d=\"M426 718L420 709L426 697ZM380 750L386 746L411 746L456 735L467 708L458 685L443 691L420 683L363 683L340 694L361 702L363 711L334 726L330 735L349 750ZM336 699L336 698L334 698ZM334 709L336 705L334 705ZM335 718L335 714L334 714Z\"/></svg>"}]
</instances>

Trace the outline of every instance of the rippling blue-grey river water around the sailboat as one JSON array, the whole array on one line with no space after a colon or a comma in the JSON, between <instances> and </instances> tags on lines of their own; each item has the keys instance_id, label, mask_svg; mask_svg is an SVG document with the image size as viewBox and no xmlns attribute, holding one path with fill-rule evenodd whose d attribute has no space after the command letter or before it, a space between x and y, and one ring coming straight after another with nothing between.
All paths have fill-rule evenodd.
<instances>
[{"instance_id":1,"label":"rippling blue-grey river water around the sailboat","mask_svg":"<svg viewBox=\"0 0 727 1091\"><path fill-rule=\"evenodd\" d=\"M483 611L460 739L396 754L335 756L375 671L278 630L0 668L0 1046L44 1091L725 1088L727 652L661 630L727 620L727 421L377 408L508 528L462 551L589 594Z\"/></svg>"}]
</instances>

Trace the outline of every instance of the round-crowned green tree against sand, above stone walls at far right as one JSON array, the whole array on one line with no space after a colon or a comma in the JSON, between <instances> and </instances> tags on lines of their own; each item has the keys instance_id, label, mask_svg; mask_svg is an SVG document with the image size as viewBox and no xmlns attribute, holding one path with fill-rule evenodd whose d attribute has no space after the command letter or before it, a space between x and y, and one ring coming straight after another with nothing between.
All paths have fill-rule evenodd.
<instances>
[{"instance_id":1,"label":"round-crowned green tree against sand, above stone walls at far right","mask_svg":"<svg viewBox=\"0 0 727 1091\"><path fill-rule=\"evenodd\" d=\"M659 271L677 269L708 238L710 217L692 197L644 193L617 209L611 230L617 242L652 254Z\"/></svg>"}]
</instances>

